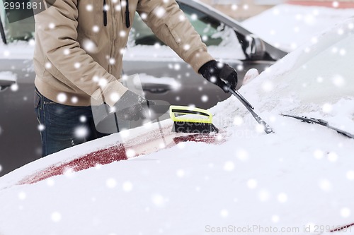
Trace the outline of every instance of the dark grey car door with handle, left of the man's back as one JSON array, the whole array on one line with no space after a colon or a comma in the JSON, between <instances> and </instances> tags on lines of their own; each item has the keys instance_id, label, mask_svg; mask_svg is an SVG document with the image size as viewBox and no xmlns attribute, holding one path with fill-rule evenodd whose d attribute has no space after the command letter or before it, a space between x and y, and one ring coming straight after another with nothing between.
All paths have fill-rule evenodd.
<instances>
[{"instance_id":1,"label":"dark grey car door with handle, left of the man's back","mask_svg":"<svg viewBox=\"0 0 354 235\"><path fill-rule=\"evenodd\" d=\"M41 156L40 132L33 109L35 74L30 38L34 21L26 18L9 23L4 13L3 8L1 25L8 44L4 44L4 38L0 41L0 176ZM21 10L13 13L21 14Z\"/></svg>"}]
</instances>

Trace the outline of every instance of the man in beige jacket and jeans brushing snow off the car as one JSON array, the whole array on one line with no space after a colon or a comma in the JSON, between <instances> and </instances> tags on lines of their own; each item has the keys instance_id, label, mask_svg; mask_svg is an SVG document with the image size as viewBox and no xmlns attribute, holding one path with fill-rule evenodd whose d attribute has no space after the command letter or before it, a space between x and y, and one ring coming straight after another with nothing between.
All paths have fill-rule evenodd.
<instances>
[{"instance_id":1,"label":"man in beige jacket and jeans brushing snow off the car","mask_svg":"<svg viewBox=\"0 0 354 235\"><path fill-rule=\"evenodd\" d=\"M91 98L117 108L120 119L146 118L154 102L118 81L135 11L195 72L225 91L236 88L236 71L207 53L175 0L61 0L46 7L35 15L33 58L43 156L103 136Z\"/></svg>"}]
</instances>

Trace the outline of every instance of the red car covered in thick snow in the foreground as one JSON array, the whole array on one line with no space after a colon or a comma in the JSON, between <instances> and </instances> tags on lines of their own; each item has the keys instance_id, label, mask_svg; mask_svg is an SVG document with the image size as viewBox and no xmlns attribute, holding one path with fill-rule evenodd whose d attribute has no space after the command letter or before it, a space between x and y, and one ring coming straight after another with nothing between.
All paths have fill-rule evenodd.
<instances>
[{"instance_id":1,"label":"red car covered in thick snow in the foreground","mask_svg":"<svg viewBox=\"0 0 354 235\"><path fill-rule=\"evenodd\" d=\"M239 90L275 133L229 97L204 141L164 120L2 176L0 234L353 234L353 138L281 115L354 133L353 40L349 18Z\"/></svg>"}]
</instances>

